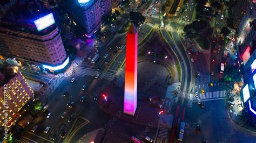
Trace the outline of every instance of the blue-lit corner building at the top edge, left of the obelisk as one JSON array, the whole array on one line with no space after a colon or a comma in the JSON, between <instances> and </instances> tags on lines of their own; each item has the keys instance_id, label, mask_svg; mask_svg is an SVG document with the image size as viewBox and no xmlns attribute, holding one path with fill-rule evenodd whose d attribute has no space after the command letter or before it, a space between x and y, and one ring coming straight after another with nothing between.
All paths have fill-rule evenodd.
<instances>
[{"instance_id":1,"label":"blue-lit corner building at the top edge, left of the obelisk","mask_svg":"<svg viewBox=\"0 0 256 143\"><path fill-rule=\"evenodd\" d=\"M64 6L70 17L81 26L87 37L91 37L100 27L102 16L111 13L111 0L68 0Z\"/></svg>"}]
</instances>

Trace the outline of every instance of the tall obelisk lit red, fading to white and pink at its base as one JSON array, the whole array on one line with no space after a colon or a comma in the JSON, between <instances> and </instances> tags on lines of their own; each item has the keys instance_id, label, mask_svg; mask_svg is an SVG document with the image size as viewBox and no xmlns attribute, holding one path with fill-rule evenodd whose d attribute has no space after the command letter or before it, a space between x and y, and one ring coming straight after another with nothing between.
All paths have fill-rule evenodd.
<instances>
[{"instance_id":1,"label":"tall obelisk lit red, fading to white and pink at its base","mask_svg":"<svg viewBox=\"0 0 256 143\"><path fill-rule=\"evenodd\" d=\"M137 109L137 50L138 33L132 23L126 39L124 113L134 116Z\"/></svg>"}]
</instances>

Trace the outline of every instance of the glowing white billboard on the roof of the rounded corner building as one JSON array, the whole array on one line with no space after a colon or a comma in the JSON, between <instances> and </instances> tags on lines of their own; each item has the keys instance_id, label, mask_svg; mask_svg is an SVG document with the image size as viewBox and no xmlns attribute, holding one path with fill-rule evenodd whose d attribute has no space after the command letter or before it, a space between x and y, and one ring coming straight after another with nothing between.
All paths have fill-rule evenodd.
<instances>
[{"instance_id":1,"label":"glowing white billboard on the roof of the rounded corner building","mask_svg":"<svg viewBox=\"0 0 256 143\"><path fill-rule=\"evenodd\" d=\"M42 31L45 28L51 26L52 24L55 24L55 20L52 13L50 13L49 15L35 20L34 23L36 25L37 31Z\"/></svg>"}]
</instances>

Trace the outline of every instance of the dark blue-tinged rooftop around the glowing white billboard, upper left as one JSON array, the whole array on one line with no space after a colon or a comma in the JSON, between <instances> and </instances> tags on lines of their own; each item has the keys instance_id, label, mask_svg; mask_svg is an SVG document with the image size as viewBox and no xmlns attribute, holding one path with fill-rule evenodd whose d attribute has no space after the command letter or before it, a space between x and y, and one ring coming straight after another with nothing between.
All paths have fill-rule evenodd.
<instances>
[{"instance_id":1,"label":"dark blue-tinged rooftop around the glowing white billboard, upper left","mask_svg":"<svg viewBox=\"0 0 256 143\"><path fill-rule=\"evenodd\" d=\"M1 1L1 4L3 4L4 2L5 1ZM8 3L9 2L5 2L5 4ZM17 1L14 5L11 6L11 8L3 11L2 17L0 18L0 26L4 28L10 28L11 30L36 35L48 34L56 29L56 24L53 24L38 32L34 23L35 20L51 13L51 11L44 8L42 5L42 3L36 3L32 0Z\"/></svg>"}]
</instances>

